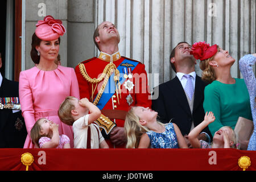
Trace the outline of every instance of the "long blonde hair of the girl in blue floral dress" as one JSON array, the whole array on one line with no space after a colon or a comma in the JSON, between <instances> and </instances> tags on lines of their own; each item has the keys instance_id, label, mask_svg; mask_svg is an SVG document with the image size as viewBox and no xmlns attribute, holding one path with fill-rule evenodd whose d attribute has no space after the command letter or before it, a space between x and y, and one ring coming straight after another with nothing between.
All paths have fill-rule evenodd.
<instances>
[{"instance_id":1,"label":"long blonde hair of the girl in blue floral dress","mask_svg":"<svg viewBox=\"0 0 256 182\"><path fill-rule=\"evenodd\" d=\"M146 126L142 126L139 122L141 118L134 113L135 108L136 106L131 107L125 118L124 127L127 136L126 148L138 148L142 134L150 131ZM160 123L160 125L164 125L159 121L158 123Z\"/></svg>"}]
</instances>

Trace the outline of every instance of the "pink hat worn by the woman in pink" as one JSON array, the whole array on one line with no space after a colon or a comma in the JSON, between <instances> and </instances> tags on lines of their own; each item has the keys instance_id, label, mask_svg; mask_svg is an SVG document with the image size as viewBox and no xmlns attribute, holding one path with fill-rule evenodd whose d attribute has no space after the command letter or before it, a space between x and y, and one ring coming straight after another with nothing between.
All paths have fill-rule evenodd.
<instances>
[{"instance_id":1,"label":"pink hat worn by the woman in pink","mask_svg":"<svg viewBox=\"0 0 256 182\"><path fill-rule=\"evenodd\" d=\"M58 39L66 32L65 27L60 19L54 19L51 15L39 20L36 24L35 34L41 40L51 41Z\"/></svg>"}]
</instances>

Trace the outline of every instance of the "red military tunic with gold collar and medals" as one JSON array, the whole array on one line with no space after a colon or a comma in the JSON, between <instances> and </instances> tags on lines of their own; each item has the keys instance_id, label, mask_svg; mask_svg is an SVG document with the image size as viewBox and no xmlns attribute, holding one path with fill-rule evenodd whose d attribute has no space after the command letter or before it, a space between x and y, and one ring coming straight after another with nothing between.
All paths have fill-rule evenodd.
<instances>
[{"instance_id":1,"label":"red military tunic with gold collar and medals","mask_svg":"<svg viewBox=\"0 0 256 182\"><path fill-rule=\"evenodd\" d=\"M82 64L84 64L86 73L90 78L98 78L100 77L101 73L104 71L104 68L106 67L106 65L110 63L110 61L113 61L113 63L115 64L115 67L118 67L118 65L121 64L125 59L131 60L126 57L121 57L119 55L119 52L114 53L111 56L101 52L99 57L93 57L92 59L85 60L82 62ZM123 84L121 85L121 98L120 98L120 94L118 94L117 96L117 93L114 93L113 96L110 98L110 100L106 103L106 105L101 110L102 113L104 113L104 110L128 111L131 106L143 106L143 107L151 108L151 94L148 87L147 73L145 71L145 66L139 61L135 61L135 60L131 60L131 61L134 61L134 63L135 62L138 63L138 65L132 71L133 77L126 78L126 81L123 82ZM89 101L92 102L91 100L92 89L95 89L96 84L93 84L93 87L92 87L92 84L86 81L86 79L82 76L80 72L79 65L76 66L75 72L76 72L77 80L79 82L80 98L86 97L88 98ZM127 69L125 69L125 72L127 72L127 74L129 73L129 65L127 65ZM123 77L123 74L121 74L121 76L122 76L122 79L125 79ZM131 86L130 91L129 89L127 89L127 86L125 86L127 84L126 83L127 81L130 83L133 82L131 85L134 85L134 86ZM96 98L97 93L101 88L102 82L103 81L101 81L97 85L97 88L93 94L93 99ZM115 90L115 88L113 88L112 90ZM118 100L119 100L119 104L118 104ZM110 118L113 120L112 117ZM124 119L125 118L123 119L115 118L114 122L117 124L117 126L123 127L125 122Z\"/></svg>"}]
</instances>

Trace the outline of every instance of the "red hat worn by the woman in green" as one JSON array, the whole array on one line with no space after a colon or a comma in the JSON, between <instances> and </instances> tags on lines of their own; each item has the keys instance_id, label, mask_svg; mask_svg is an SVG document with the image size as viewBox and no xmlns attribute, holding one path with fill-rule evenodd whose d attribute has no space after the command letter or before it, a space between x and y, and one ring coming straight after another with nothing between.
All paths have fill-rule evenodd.
<instances>
[{"instance_id":1,"label":"red hat worn by the woman in green","mask_svg":"<svg viewBox=\"0 0 256 182\"><path fill-rule=\"evenodd\" d=\"M209 44L204 42L196 42L192 45L190 54L195 57L195 59L200 59L201 61L209 59L218 51L217 45L209 46Z\"/></svg>"}]
</instances>

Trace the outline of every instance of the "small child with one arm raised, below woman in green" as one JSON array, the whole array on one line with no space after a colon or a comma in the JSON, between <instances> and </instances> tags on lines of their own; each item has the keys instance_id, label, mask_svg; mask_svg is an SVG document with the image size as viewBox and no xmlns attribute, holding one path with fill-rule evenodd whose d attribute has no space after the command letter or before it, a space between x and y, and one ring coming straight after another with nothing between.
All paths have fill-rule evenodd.
<instances>
[{"instance_id":1,"label":"small child with one arm raised, below woman in green","mask_svg":"<svg viewBox=\"0 0 256 182\"><path fill-rule=\"evenodd\" d=\"M237 138L230 126L223 126L213 135L213 142L209 145L204 140L197 139L200 132L215 120L214 114L210 111L205 113L204 121L197 125L189 134L188 140L193 148L237 148Z\"/></svg>"}]
</instances>

